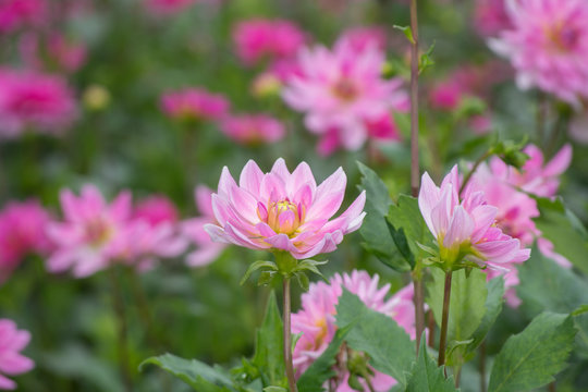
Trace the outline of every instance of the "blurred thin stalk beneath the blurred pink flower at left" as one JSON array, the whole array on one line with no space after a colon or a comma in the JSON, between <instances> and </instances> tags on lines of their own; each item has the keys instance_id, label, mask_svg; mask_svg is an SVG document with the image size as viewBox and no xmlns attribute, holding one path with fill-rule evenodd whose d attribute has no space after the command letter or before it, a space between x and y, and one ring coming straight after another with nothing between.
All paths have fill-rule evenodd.
<instances>
[{"instance_id":1,"label":"blurred thin stalk beneath the blurred pink flower at left","mask_svg":"<svg viewBox=\"0 0 588 392\"><path fill-rule=\"evenodd\" d=\"M131 392L133 391L133 381L131 376L131 367L128 364L128 327L126 324L126 315L124 311L124 299L122 296L122 290L121 285L119 284L117 272L114 271L114 266L110 266L110 268L108 269L108 274L110 278L110 283L112 285L112 307L114 309L114 315L117 316L118 321L117 345L119 350L121 375L123 378L125 391Z\"/></svg>"}]
</instances>

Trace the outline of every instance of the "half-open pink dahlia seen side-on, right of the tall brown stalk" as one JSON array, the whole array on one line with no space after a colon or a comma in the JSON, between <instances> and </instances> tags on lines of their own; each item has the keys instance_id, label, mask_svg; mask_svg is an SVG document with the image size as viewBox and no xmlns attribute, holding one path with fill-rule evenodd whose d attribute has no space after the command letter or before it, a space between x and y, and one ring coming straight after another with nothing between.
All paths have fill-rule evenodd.
<instances>
[{"instance_id":1,"label":"half-open pink dahlia seen side-on, right of the tall brown stalk","mask_svg":"<svg viewBox=\"0 0 588 392\"><path fill-rule=\"evenodd\" d=\"M495 225L498 208L487 204L483 192L466 186L460 195L457 167L434 185L422 175L418 206L427 226L436 237L445 268L460 267L463 260L497 267L529 258L530 249Z\"/></svg>"}]
</instances>

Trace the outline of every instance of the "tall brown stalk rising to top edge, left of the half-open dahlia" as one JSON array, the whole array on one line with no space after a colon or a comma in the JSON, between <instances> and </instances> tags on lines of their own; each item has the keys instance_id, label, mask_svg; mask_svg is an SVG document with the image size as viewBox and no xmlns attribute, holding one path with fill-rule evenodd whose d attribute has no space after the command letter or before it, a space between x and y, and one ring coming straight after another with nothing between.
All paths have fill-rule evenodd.
<instances>
[{"instance_id":1,"label":"tall brown stalk rising to top edge, left of the half-open dahlia","mask_svg":"<svg viewBox=\"0 0 588 392\"><path fill-rule=\"evenodd\" d=\"M411 0L411 189L413 196L418 196L420 170L418 166L418 16L417 0ZM418 267L417 267L418 268ZM416 350L420 346L420 336L425 330L425 294L422 290L422 274L420 271L413 274L415 287L415 326Z\"/></svg>"}]
</instances>

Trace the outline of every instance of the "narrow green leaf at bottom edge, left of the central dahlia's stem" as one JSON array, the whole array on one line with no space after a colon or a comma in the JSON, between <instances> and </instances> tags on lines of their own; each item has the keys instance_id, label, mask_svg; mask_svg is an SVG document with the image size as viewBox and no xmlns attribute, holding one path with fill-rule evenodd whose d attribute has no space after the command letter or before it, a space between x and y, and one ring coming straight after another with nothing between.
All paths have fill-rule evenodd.
<instances>
[{"instance_id":1,"label":"narrow green leaf at bottom edge, left of the central dahlia's stem","mask_svg":"<svg viewBox=\"0 0 588 392\"><path fill-rule=\"evenodd\" d=\"M229 377L196 359L184 359L164 354L145 359L139 365L139 370L143 370L147 365L159 366L198 392L234 391L233 382Z\"/></svg>"}]
</instances>

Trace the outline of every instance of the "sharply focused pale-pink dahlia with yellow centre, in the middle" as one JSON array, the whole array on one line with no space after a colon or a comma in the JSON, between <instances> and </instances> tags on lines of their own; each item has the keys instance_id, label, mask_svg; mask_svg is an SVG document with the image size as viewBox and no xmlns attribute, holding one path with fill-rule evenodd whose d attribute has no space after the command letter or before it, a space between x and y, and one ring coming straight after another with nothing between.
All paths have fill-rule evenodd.
<instances>
[{"instance_id":1,"label":"sharply focused pale-pink dahlia with yellow centre, in the middle","mask_svg":"<svg viewBox=\"0 0 588 392\"><path fill-rule=\"evenodd\" d=\"M205 229L217 242L285 250L297 259L333 252L343 235L359 229L366 215L362 192L345 212L329 220L343 203L346 181L339 168L317 186L306 162L290 173L280 158L269 173L248 161L237 185L225 167L212 195L218 224Z\"/></svg>"}]
</instances>

